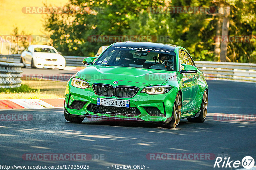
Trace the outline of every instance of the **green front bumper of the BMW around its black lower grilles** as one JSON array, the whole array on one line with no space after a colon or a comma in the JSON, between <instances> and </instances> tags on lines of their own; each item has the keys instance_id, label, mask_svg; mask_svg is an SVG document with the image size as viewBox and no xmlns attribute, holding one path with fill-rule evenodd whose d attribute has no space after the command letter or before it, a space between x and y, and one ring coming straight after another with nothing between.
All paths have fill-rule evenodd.
<instances>
[{"instance_id":1,"label":"green front bumper of the BMW around its black lower grilles","mask_svg":"<svg viewBox=\"0 0 256 170\"><path fill-rule=\"evenodd\" d=\"M89 84L91 85L91 83ZM139 92L132 98L121 98L121 97L115 97L115 96L107 97L107 96L96 95L92 89L92 86L91 88L79 89L71 86L69 82L66 89L64 108L67 114L70 114L73 116L80 116L80 117L114 118L117 120L133 120L133 121L160 123L160 124L168 123L169 121L171 121L173 103L175 100L177 90L175 88L172 88L166 94L148 95L146 93L140 93L140 91L144 88L144 86L139 88L140 88ZM90 107L90 104L97 103L97 98L129 100L130 107L136 107L139 110L140 114L136 116L124 116L124 115L93 113L88 108ZM76 110L68 107L74 101L82 101L86 103L82 109ZM144 107L156 107L160 110L163 116L151 116L144 109Z\"/></svg>"}]
</instances>

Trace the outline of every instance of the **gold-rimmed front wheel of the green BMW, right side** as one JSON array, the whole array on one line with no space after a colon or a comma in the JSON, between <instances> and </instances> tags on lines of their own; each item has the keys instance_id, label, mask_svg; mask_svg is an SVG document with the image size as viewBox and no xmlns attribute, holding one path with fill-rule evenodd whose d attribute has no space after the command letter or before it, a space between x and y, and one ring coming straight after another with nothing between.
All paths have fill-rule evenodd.
<instances>
[{"instance_id":1,"label":"gold-rimmed front wheel of the green BMW, right side","mask_svg":"<svg viewBox=\"0 0 256 170\"><path fill-rule=\"evenodd\" d=\"M182 105L181 95L180 93L178 93L176 95L175 102L173 105L172 120L170 123L166 124L167 127L176 128L180 123L181 105Z\"/></svg>"}]
</instances>

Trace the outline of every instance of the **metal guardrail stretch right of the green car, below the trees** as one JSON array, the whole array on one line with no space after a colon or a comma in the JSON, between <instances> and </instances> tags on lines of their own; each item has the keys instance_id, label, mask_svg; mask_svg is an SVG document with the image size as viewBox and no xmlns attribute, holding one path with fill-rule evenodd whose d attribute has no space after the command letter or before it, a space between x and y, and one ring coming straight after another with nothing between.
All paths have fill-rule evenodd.
<instances>
[{"instance_id":1,"label":"metal guardrail stretch right of the green car, below the trees","mask_svg":"<svg viewBox=\"0 0 256 170\"><path fill-rule=\"evenodd\" d=\"M256 82L256 64L214 61L195 61L208 79L232 79Z\"/></svg>"}]
</instances>

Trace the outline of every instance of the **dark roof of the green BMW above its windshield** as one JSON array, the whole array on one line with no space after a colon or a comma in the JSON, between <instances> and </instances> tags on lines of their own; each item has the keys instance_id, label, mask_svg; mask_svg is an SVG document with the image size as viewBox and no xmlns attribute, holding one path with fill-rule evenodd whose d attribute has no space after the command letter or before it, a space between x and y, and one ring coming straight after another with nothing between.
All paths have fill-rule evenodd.
<instances>
[{"instance_id":1,"label":"dark roof of the green BMW above its windshield","mask_svg":"<svg viewBox=\"0 0 256 170\"><path fill-rule=\"evenodd\" d=\"M172 44L162 44L162 43L153 43L153 42L134 42L134 41L117 42L112 46L151 47L151 48L161 48L161 49L166 49L171 51L174 51L174 49L177 47Z\"/></svg>"}]
</instances>

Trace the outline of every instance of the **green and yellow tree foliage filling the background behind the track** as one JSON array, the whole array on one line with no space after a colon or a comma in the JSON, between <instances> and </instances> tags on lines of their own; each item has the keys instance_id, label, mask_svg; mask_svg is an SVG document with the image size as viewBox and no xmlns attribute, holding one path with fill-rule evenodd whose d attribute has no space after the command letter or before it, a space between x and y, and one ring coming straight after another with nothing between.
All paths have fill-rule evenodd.
<instances>
[{"instance_id":1,"label":"green and yellow tree foliage filling the background behind the track","mask_svg":"<svg viewBox=\"0 0 256 170\"><path fill-rule=\"evenodd\" d=\"M185 47L194 60L217 61L214 54L216 25L220 16L204 13L155 13L164 6L230 6L229 35L256 34L254 0L70 0L67 7L84 11L51 13L45 20L52 44L63 55L93 56L98 48L112 42L90 42L97 35L150 35L153 42ZM229 42L227 57L232 62L255 62L256 42Z\"/></svg>"}]
</instances>

